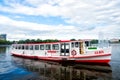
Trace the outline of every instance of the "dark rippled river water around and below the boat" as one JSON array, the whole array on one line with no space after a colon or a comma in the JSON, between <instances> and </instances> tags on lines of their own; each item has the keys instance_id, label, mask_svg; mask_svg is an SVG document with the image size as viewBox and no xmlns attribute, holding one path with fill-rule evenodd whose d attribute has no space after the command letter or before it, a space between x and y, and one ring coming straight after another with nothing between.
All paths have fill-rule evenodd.
<instances>
[{"instance_id":1,"label":"dark rippled river water around and below the boat","mask_svg":"<svg viewBox=\"0 0 120 80\"><path fill-rule=\"evenodd\" d=\"M0 80L120 80L120 44L112 44L112 60L102 66L23 59L0 47Z\"/></svg>"}]
</instances>

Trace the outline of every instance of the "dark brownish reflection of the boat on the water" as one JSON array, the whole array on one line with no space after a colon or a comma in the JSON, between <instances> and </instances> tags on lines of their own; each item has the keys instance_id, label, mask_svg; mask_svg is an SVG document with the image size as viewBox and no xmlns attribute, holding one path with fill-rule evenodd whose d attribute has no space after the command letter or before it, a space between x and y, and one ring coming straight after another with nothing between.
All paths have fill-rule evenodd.
<instances>
[{"instance_id":1,"label":"dark brownish reflection of the boat on the water","mask_svg":"<svg viewBox=\"0 0 120 80\"><path fill-rule=\"evenodd\" d=\"M71 64L63 66L59 63L37 61L12 57L12 63L27 71L38 74L34 80L111 80L110 66ZM31 80L31 79L30 79Z\"/></svg>"}]
</instances>

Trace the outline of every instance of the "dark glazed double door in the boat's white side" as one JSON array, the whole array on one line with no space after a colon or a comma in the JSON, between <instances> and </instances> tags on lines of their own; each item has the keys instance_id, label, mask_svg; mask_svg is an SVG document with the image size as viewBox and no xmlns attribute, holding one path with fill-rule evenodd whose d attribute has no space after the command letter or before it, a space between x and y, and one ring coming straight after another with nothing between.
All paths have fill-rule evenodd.
<instances>
[{"instance_id":1,"label":"dark glazed double door in the boat's white side","mask_svg":"<svg viewBox=\"0 0 120 80\"><path fill-rule=\"evenodd\" d=\"M69 56L70 54L70 44L69 43L61 43L60 44L60 56Z\"/></svg>"}]
</instances>

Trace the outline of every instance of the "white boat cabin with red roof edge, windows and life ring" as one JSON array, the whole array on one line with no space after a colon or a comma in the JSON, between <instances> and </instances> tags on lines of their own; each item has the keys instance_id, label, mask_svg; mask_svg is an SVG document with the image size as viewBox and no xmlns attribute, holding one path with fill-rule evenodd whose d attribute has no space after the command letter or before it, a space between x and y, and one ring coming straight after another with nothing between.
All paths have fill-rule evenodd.
<instances>
[{"instance_id":1,"label":"white boat cabin with red roof edge, windows and life ring","mask_svg":"<svg viewBox=\"0 0 120 80\"><path fill-rule=\"evenodd\" d=\"M22 54L41 56L75 56L84 54L83 41L60 41L52 43L14 44L13 50Z\"/></svg>"}]
</instances>

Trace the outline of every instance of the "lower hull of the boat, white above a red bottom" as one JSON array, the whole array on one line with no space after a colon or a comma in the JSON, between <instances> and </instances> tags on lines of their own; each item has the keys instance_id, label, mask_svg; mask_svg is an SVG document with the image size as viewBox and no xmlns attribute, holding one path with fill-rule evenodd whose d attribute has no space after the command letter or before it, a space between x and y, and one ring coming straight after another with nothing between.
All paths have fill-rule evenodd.
<instances>
[{"instance_id":1,"label":"lower hull of the boat, white above a red bottom","mask_svg":"<svg viewBox=\"0 0 120 80\"><path fill-rule=\"evenodd\" d=\"M46 60L46 61L55 61L55 62L74 62L74 63L109 63L111 59L111 54L102 55L102 56L87 56L87 57L42 57L42 56L31 56L31 55L22 55L12 53L13 56L28 58L28 59L37 59L37 60Z\"/></svg>"}]
</instances>

